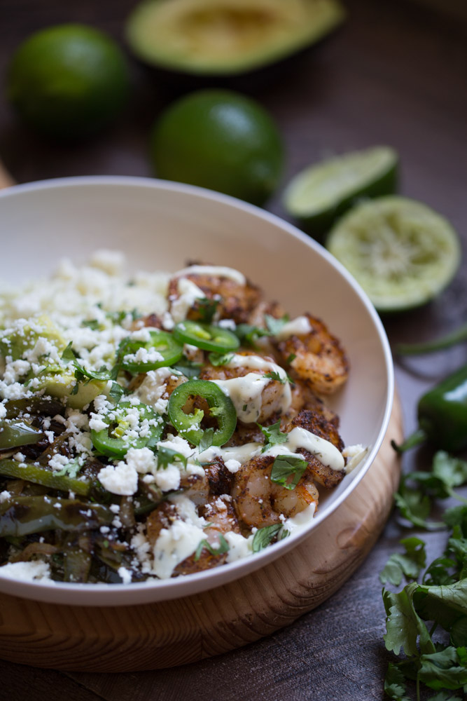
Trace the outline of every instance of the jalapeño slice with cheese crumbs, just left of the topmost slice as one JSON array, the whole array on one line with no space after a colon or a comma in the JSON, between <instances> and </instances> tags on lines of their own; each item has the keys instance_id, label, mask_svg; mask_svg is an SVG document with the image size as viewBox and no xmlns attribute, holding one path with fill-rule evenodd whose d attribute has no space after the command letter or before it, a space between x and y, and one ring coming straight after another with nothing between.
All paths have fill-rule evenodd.
<instances>
[{"instance_id":1,"label":"jalape\u00f1o slice with cheese crumbs, just left of the topmost slice","mask_svg":"<svg viewBox=\"0 0 467 701\"><path fill-rule=\"evenodd\" d=\"M156 370L178 362L183 354L181 346L172 334L150 331L151 341L123 339L118 351L118 364L132 374Z\"/></svg>"}]
</instances>

